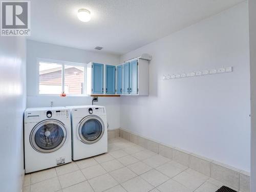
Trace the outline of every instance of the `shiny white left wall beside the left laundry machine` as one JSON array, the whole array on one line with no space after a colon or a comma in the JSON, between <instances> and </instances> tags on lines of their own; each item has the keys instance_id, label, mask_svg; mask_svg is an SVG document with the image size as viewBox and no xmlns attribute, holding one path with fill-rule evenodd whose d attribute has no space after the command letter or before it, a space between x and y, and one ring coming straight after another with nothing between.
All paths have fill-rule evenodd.
<instances>
[{"instance_id":1,"label":"shiny white left wall beside the left laundry machine","mask_svg":"<svg viewBox=\"0 0 256 192\"><path fill-rule=\"evenodd\" d=\"M0 37L0 191L20 192L24 176L26 40Z\"/></svg>"}]
</instances>

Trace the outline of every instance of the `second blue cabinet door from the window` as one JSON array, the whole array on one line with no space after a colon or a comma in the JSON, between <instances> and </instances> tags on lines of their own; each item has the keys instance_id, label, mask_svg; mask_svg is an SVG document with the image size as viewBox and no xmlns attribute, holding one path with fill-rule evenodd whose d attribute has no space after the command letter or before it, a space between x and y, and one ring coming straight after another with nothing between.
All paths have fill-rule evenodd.
<instances>
[{"instance_id":1,"label":"second blue cabinet door from the window","mask_svg":"<svg viewBox=\"0 0 256 192\"><path fill-rule=\"evenodd\" d=\"M116 93L116 66L106 65L106 94Z\"/></svg>"}]
</instances>

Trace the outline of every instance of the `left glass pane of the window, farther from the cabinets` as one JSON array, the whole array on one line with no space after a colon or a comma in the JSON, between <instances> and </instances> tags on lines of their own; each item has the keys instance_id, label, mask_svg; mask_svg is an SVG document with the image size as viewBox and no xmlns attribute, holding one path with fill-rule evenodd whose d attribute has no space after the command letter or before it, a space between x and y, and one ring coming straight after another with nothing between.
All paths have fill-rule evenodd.
<instances>
[{"instance_id":1,"label":"left glass pane of the window, farther from the cabinets","mask_svg":"<svg viewBox=\"0 0 256 192\"><path fill-rule=\"evenodd\" d=\"M62 65L39 62L39 94L61 94Z\"/></svg>"}]
</instances>

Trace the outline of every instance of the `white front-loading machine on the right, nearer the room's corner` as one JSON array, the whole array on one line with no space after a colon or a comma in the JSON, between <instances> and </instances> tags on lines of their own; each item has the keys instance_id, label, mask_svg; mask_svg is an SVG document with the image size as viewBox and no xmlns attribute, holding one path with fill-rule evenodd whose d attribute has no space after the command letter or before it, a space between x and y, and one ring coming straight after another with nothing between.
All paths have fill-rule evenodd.
<instances>
[{"instance_id":1,"label":"white front-loading machine on the right, nearer the room's corner","mask_svg":"<svg viewBox=\"0 0 256 192\"><path fill-rule=\"evenodd\" d=\"M72 117L72 159L108 152L108 124L104 106L67 106Z\"/></svg>"}]
</instances>

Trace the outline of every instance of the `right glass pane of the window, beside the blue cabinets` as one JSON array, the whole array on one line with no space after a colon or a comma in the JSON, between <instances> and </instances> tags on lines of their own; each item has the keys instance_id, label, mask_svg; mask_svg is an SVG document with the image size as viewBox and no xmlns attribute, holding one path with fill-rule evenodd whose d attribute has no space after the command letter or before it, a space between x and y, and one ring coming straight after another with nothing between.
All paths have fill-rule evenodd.
<instances>
[{"instance_id":1,"label":"right glass pane of the window, beside the blue cabinets","mask_svg":"<svg viewBox=\"0 0 256 192\"><path fill-rule=\"evenodd\" d=\"M84 67L65 66L65 93L84 94Z\"/></svg>"}]
</instances>

